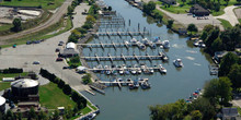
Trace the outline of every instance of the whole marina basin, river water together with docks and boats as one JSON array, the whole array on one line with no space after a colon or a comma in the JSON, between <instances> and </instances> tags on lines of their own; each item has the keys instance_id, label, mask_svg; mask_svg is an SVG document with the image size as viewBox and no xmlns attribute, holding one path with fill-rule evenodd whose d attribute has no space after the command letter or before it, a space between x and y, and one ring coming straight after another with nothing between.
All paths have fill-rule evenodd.
<instances>
[{"instance_id":1,"label":"whole marina basin, river water together with docks and boats","mask_svg":"<svg viewBox=\"0 0 241 120\"><path fill-rule=\"evenodd\" d=\"M111 17L120 16L114 16L114 14L103 15L100 21L104 22L102 25L100 22L99 32L115 32L115 35L100 35L93 37L85 45L78 45L82 49L83 57L93 57L91 58L93 60L85 60L88 63L87 69L96 74L99 77L96 82L100 85L107 86L102 89L105 94L99 94L97 92L93 96L83 92L88 98L102 108L103 112L96 116L97 120L111 120L113 118L115 120L148 120L150 119L149 106L185 99L194 89L202 88L206 81L217 77L209 73L208 65L210 63L208 58L200 52L198 47L193 47L193 44L188 45L186 41L188 37L179 36L169 31L165 25L157 24L153 19L145 15L142 11L133 8L124 0L104 0L104 2L111 5L116 14L122 15L124 19L122 21L125 22L117 23L116 26L106 25L106 21ZM144 32L146 29L149 34L142 37L141 35L119 36L116 33L128 32L127 29L129 32L138 32L139 29ZM162 44L164 40L169 41L165 47L156 45L156 48L151 48L145 44L145 38L153 44L156 38ZM136 45L125 47L125 41L128 41L128 44L140 41L141 47ZM103 47L101 47L102 45ZM144 56L145 59L136 60L134 55ZM149 60L147 55L165 57ZM106 60L96 60L96 57L103 57ZM124 60L126 57L131 57L131 59ZM182 60L183 68L176 68L173 64L173 60L176 59ZM81 58L81 60L84 60L84 58ZM100 64L102 69L100 69ZM147 68L161 64L167 70L167 74L162 74L154 69L150 70L149 73L144 72L141 64ZM148 83L139 81L140 79L148 79ZM130 80L133 81L131 84Z\"/></svg>"}]
</instances>

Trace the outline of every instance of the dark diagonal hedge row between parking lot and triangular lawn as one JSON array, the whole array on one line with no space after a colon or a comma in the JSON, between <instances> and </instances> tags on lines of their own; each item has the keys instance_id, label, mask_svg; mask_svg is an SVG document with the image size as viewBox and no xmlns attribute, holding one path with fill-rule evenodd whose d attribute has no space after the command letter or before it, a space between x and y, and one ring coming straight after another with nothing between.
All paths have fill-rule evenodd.
<instances>
[{"instance_id":1,"label":"dark diagonal hedge row between parking lot and triangular lawn","mask_svg":"<svg viewBox=\"0 0 241 120\"><path fill-rule=\"evenodd\" d=\"M45 69L41 69L41 75L48 79L50 82L58 84L58 87L61 88L66 95L70 96L74 103L77 103L78 109L87 107L87 99L80 96L77 92L72 91L69 84L66 84L61 79L57 77L53 73L49 73Z\"/></svg>"}]
</instances>

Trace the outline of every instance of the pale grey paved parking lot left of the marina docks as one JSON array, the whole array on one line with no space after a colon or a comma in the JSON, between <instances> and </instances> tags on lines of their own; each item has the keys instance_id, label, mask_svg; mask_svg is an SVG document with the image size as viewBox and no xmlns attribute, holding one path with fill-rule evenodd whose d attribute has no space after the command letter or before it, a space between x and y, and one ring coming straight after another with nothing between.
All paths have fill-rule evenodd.
<instances>
[{"instance_id":1,"label":"pale grey paved parking lot left of the marina docks","mask_svg":"<svg viewBox=\"0 0 241 120\"><path fill-rule=\"evenodd\" d=\"M82 3L76 8L74 12L77 12L77 14L73 16L73 28L84 24L87 15L81 14L84 9L89 10L90 7L87 3ZM57 53L55 49L58 47L57 45L60 40L66 43L70 34L69 31L46 39L41 44L4 48L0 55L0 69L15 67L23 68L24 71L35 71L38 73L39 69L44 68L69 83L74 89L84 91L89 88L89 86L81 83L82 75L76 73L73 70L62 70L62 67L67 64L65 62L56 62ZM41 64L33 64L33 61L39 61Z\"/></svg>"}]
</instances>

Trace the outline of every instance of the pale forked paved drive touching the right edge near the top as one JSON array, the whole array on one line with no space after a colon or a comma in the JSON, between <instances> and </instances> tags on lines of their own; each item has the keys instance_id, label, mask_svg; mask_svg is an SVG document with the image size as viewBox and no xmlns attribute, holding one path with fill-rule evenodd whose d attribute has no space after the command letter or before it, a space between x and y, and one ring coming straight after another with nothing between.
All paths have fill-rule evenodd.
<instances>
[{"instance_id":1,"label":"pale forked paved drive touching the right edge near the top","mask_svg":"<svg viewBox=\"0 0 241 120\"><path fill-rule=\"evenodd\" d=\"M222 19L229 21L229 23L234 26L236 24L239 24L239 21L233 12L233 9L238 8L238 5L230 5L225 8L225 14L220 16L215 16L216 19Z\"/></svg>"}]
</instances>

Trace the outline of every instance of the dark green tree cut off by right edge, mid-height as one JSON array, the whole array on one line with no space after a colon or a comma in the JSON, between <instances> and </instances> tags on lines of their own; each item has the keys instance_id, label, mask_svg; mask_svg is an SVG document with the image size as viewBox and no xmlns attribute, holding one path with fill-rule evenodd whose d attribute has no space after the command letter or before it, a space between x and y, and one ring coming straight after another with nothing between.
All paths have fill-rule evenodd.
<instances>
[{"instance_id":1,"label":"dark green tree cut off by right edge, mid-height","mask_svg":"<svg viewBox=\"0 0 241 120\"><path fill-rule=\"evenodd\" d=\"M238 63L233 64L228 74L228 77L231 80L232 87L234 89L240 88L241 87L241 64L238 64Z\"/></svg>"}]
</instances>

